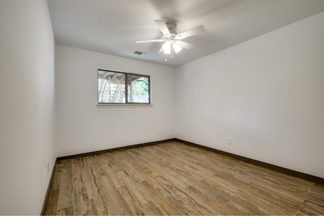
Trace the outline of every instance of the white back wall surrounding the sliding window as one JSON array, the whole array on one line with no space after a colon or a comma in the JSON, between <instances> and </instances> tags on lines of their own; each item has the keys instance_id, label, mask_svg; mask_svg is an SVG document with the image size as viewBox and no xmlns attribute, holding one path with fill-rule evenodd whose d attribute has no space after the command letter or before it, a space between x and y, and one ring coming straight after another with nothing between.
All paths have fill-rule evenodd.
<instances>
[{"instance_id":1,"label":"white back wall surrounding the sliding window","mask_svg":"<svg viewBox=\"0 0 324 216\"><path fill-rule=\"evenodd\" d=\"M57 156L174 138L174 68L62 45L55 56ZM98 108L98 68L150 75L153 107Z\"/></svg>"}]
</instances>

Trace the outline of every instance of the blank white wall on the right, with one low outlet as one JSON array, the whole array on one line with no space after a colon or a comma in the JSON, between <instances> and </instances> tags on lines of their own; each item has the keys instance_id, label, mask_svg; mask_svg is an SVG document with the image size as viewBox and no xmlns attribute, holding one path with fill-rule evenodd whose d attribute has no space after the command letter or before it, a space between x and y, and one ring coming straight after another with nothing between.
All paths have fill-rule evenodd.
<instances>
[{"instance_id":1,"label":"blank white wall on the right, with one low outlet","mask_svg":"<svg viewBox=\"0 0 324 216\"><path fill-rule=\"evenodd\" d=\"M176 138L324 178L323 60L324 12L178 67Z\"/></svg>"}]
</instances>

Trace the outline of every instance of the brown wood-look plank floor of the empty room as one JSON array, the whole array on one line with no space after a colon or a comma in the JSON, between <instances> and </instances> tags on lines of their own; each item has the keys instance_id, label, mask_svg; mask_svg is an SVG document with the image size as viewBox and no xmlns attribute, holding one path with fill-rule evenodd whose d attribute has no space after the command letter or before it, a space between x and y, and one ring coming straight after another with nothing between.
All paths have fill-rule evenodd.
<instances>
[{"instance_id":1,"label":"brown wood-look plank floor of the empty room","mask_svg":"<svg viewBox=\"0 0 324 216\"><path fill-rule=\"evenodd\" d=\"M57 162L45 214L324 214L324 186L178 142Z\"/></svg>"}]
</instances>

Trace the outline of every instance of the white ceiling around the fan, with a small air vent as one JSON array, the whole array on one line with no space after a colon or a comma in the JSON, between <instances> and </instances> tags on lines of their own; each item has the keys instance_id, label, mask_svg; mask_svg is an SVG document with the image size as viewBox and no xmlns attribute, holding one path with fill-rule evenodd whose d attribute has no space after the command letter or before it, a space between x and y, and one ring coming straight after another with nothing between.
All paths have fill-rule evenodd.
<instances>
[{"instance_id":1,"label":"white ceiling around the fan, with a small air vent","mask_svg":"<svg viewBox=\"0 0 324 216\"><path fill-rule=\"evenodd\" d=\"M176 67L324 11L324 0L48 0L57 44ZM178 33L204 25L183 41L195 46L165 61L154 20ZM146 53L134 54L135 51Z\"/></svg>"}]
</instances>

